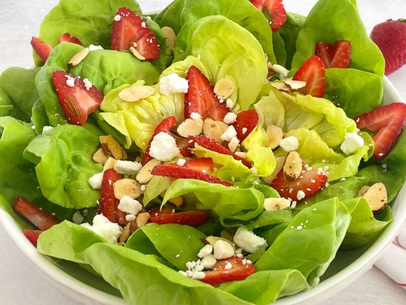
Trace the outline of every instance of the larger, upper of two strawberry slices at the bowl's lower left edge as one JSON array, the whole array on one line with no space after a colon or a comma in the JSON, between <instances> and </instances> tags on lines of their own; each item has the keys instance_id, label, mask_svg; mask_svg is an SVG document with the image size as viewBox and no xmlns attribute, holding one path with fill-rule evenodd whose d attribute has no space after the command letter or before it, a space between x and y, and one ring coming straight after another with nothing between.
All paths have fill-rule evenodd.
<instances>
[{"instance_id":1,"label":"larger, upper of two strawberry slices at the bowl's lower left edge","mask_svg":"<svg viewBox=\"0 0 406 305\"><path fill-rule=\"evenodd\" d=\"M46 210L21 197L18 198L13 204L13 209L43 231L48 230L53 225L60 223L59 219L53 216L50 212L47 212Z\"/></svg>"}]
</instances>

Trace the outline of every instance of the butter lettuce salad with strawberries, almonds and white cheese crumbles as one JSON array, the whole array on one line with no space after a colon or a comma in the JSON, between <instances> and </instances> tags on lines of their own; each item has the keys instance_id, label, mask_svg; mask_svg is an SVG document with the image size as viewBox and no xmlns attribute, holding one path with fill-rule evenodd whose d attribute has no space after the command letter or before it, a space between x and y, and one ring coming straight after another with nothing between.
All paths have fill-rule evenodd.
<instances>
[{"instance_id":1,"label":"butter lettuce salad with strawberries, almonds and white cheese crumbles","mask_svg":"<svg viewBox=\"0 0 406 305\"><path fill-rule=\"evenodd\" d=\"M31 45L0 76L0 206L129 303L267 304L392 220L406 106L354 0L61 0Z\"/></svg>"}]
</instances>

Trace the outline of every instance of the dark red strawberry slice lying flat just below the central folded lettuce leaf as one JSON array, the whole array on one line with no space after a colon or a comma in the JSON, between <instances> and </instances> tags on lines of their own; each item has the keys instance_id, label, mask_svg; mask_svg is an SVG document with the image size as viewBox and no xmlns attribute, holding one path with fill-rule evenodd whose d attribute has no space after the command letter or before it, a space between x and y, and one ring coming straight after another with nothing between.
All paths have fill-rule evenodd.
<instances>
[{"instance_id":1,"label":"dark red strawberry slice lying flat just below the central folded lettuce leaf","mask_svg":"<svg viewBox=\"0 0 406 305\"><path fill-rule=\"evenodd\" d=\"M210 213L207 210L190 210L184 212L173 212L171 207L164 206L161 210L154 207L150 210L150 221L159 225L180 224L195 226L207 222Z\"/></svg>"}]
</instances>

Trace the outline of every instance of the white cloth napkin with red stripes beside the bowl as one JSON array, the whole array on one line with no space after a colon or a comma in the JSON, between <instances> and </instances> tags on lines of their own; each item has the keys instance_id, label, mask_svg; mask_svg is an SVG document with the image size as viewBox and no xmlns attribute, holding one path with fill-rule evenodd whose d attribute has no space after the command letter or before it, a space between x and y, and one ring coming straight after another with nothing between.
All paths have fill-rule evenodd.
<instances>
[{"instance_id":1,"label":"white cloth napkin with red stripes beside the bowl","mask_svg":"<svg viewBox=\"0 0 406 305\"><path fill-rule=\"evenodd\" d=\"M375 265L406 289L406 224Z\"/></svg>"}]
</instances>

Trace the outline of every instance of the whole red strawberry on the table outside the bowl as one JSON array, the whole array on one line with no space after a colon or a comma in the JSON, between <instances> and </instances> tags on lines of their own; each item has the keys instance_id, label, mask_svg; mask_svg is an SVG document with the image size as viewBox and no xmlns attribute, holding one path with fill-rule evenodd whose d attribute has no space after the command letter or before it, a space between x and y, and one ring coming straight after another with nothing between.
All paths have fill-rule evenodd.
<instances>
[{"instance_id":1,"label":"whole red strawberry on the table outside the bowl","mask_svg":"<svg viewBox=\"0 0 406 305\"><path fill-rule=\"evenodd\" d=\"M371 39L385 57L385 74L406 64L406 20L388 20L372 29Z\"/></svg>"}]
</instances>

